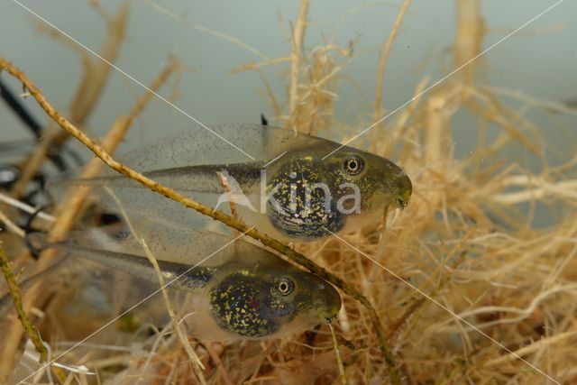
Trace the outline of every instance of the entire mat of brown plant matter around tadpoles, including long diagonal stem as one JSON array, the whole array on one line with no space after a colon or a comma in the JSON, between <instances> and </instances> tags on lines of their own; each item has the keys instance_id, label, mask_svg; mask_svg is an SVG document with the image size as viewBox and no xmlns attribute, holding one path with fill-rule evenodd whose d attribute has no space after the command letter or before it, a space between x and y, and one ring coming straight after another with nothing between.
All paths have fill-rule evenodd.
<instances>
[{"instance_id":1,"label":"entire mat of brown plant matter around tadpoles, including long diagonal stem","mask_svg":"<svg viewBox=\"0 0 577 385\"><path fill-rule=\"evenodd\" d=\"M188 25L186 18L160 4L143 4L174 23ZM109 155L154 97L153 92L169 87L172 81L167 101L178 98L182 66L177 58L151 79L150 88L132 110L116 118L105 138L90 139L87 117L122 51L130 14L128 3L116 14L108 14L97 2L92 6L105 17L108 35L99 57L75 48L85 63L84 76L67 113L57 111L42 95L39 82L18 69L23 63L0 60L2 78L12 75L21 81L24 94L35 98L51 118L38 142L15 163L18 178L4 184L1 191L2 267L9 281L6 288L16 305L22 298L23 309L16 316L13 308L7 308L0 320L0 382L24 378L28 382L228 384L577 381L573 354L577 158L574 153L556 154L563 161L550 166L545 154L554 149L546 141L546 129L529 114L543 115L553 126L559 115L575 116L577 111L572 105L538 100L480 77L487 31L479 0L456 2L453 62L444 76L423 78L411 100L387 111L382 99L388 92L384 73L389 53L399 30L411 27L405 20L411 2L406 0L397 8L396 23L384 37L380 62L375 63L375 104L367 115L371 118L360 118L365 130L334 117L335 97L346 79L343 69L356 55L354 44L306 47L307 23L314 17L308 14L306 0L301 1L292 23L287 57L267 57L233 70L260 74L274 111L271 125L327 138L338 135L343 143L351 142L353 147L402 165L413 183L413 196L405 210L391 207L380 222L363 225L352 234L291 245L244 225L234 215L234 207L227 215L202 206ZM45 32L74 47L58 30L50 27ZM232 36L205 32L253 50ZM284 70L286 101L277 100L272 92L261 71L266 66ZM454 156L454 136L460 127L453 121L459 114L471 116L478 135L475 150L462 158ZM489 135L491 130L497 134ZM567 136L571 140L574 133ZM31 258L22 240L23 217L30 213L23 215L21 209L29 207L26 203L33 206L35 178L45 163L58 167L56 155L66 155L64 146L75 140L71 138L99 158L83 168L82 178L98 175L106 164L252 236L334 283L343 297L337 319L330 327L320 325L282 339L206 343L188 338L179 327L181 315L168 297L160 309L173 319L169 325L147 322L146 312L158 309L139 314L138 309L126 313L119 307L115 315L124 316L100 331L107 318L88 308L89 302L78 305L76 313L69 312L69 304L78 301L79 295L73 280L56 279L59 270L22 288L21 295L14 282L50 269L55 261L50 251L42 252L38 261ZM527 151L538 167L511 161L506 156L509 151ZM484 161L489 159L494 161ZM43 224L52 241L66 239L79 218L90 212L89 197L88 187L70 188L59 206L43 208L46 217L36 218L35 223ZM547 216L546 225L537 227L536 215ZM25 343L27 339L33 346ZM39 358L50 365L39 364Z\"/></svg>"}]
</instances>

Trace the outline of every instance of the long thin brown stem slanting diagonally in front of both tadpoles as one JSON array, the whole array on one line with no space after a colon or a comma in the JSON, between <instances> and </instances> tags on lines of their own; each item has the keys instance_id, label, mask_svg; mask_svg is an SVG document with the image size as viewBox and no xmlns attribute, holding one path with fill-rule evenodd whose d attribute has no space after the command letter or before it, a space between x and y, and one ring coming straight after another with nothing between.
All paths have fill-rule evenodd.
<instances>
[{"instance_id":1,"label":"long thin brown stem slanting diagonally in front of both tadpoles","mask_svg":"<svg viewBox=\"0 0 577 385\"><path fill-rule=\"evenodd\" d=\"M71 124L69 120L67 120L64 116L60 115L60 113L54 108L53 105L51 105L46 100L46 98L41 94L41 91L36 86L34 86L32 80L30 80L30 78L28 78L23 73L22 70L15 68L12 65L12 63L10 63L8 60L5 60L2 57L0 57L0 69L5 69L9 74L14 76L14 78L20 80L23 83L23 86L30 91L31 95L36 99L38 104L46 112L46 114L50 116L50 118L52 118L64 130L68 131L79 142L82 142L84 145L86 145L90 151L94 152L94 154L102 161L104 161L105 164L111 169L116 170L117 172L123 174L124 176L139 182L144 187L149 188L152 191L155 191L164 197L168 197L169 199L175 200L183 206L192 208L203 215L210 216L213 219L222 222L224 225L232 227L242 233L246 233L247 235L261 242L265 246L268 246L271 249L280 252L283 255L286 255L292 261L296 261L299 265L315 273L317 276L331 282L339 289L342 289L344 293L350 295L351 297L359 301L362 304L362 306L366 307L370 312L371 324L375 329L375 334L377 335L380 344L380 351L383 354L385 362L387 363L390 380L393 384L400 384L400 376L398 373L397 364L395 362L394 355L390 350L389 343L386 339L383 327L380 323L380 316L377 313L375 307L371 305L369 299L364 297L359 291L353 289L353 287L348 283L346 283L344 280L335 276L330 271L325 270L324 268L318 266L315 262L309 260L300 252L296 252L286 244L280 243L278 240L271 238L267 234L261 233L255 228L251 228L247 225L244 225L239 220L234 219L230 215L224 214L224 212L222 211L218 211L213 208L201 205L197 201L190 199L189 197L183 196L182 194L173 190L172 188L167 188L152 179L146 178L145 176L136 172L135 170L114 160L106 151L104 151L100 146L98 146L96 142L90 139L86 133L83 133L80 130L78 130L78 128L74 124Z\"/></svg>"}]
</instances>

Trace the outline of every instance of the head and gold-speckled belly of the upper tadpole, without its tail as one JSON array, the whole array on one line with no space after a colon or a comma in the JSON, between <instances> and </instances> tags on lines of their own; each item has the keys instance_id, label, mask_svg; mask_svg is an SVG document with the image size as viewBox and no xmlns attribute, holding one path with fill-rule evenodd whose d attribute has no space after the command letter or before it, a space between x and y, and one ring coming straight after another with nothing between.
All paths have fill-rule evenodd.
<instances>
[{"instance_id":1,"label":"head and gold-speckled belly of the upper tadpole, without its tail","mask_svg":"<svg viewBox=\"0 0 577 385\"><path fill-rule=\"evenodd\" d=\"M315 240L343 230L351 216L391 203L407 206L411 181L390 160L353 150L323 159L318 152L292 151L267 168L267 193L274 198L267 201L267 215L282 234ZM354 170L347 167L352 160Z\"/></svg>"}]
</instances>

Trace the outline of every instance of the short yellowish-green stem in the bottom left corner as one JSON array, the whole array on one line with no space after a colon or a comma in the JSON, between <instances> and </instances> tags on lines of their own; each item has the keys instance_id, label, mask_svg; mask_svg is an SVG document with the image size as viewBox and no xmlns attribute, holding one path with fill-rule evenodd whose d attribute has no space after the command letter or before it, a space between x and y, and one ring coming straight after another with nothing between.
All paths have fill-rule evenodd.
<instances>
[{"instance_id":1,"label":"short yellowish-green stem in the bottom left corner","mask_svg":"<svg viewBox=\"0 0 577 385\"><path fill-rule=\"evenodd\" d=\"M42 341L42 337L40 332L34 325L32 325L32 321L26 314L23 308L22 296L20 294L20 288L18 287L18 283L14 278L14 273L10 268L10 262L6 257L4 247L2 247L2 242L0 242L0 268L2 269L2 273L4 274L4 278L6 280L6 284L8 286L8 292L12 297L12 301L14 303L14 308L16 309L16 314L18 315L18 319L20 319L20 323L23 325L24 332L28 335L28 338L34 344L36 351L40 354L40 361L41 362L48 362L48 349L44 345ZM54 374L58 377L60 382L66 381L66 374L62 369L50 367L50 370L54 372Z\"/></svg>"}]
</instances>

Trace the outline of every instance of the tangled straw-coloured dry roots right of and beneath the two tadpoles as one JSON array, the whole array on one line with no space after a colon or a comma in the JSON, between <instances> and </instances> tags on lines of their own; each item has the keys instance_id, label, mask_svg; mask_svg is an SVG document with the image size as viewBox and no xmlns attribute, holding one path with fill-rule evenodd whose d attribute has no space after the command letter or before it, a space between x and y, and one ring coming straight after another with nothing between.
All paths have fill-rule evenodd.
<instances>
[{"instance_id":1,"label":"tangled straw-coloured dry roots right of and beneath the two tadpoles","mask_svg":"<svg viewBox=\"0 0 577 385\"><path fill-rule=\"evenodd\" d=\"M340 71L353 53L351 48L332 45L303 49L307 3L301 4L287 58L269 58L235 70L260 70L288 62L292 75L286 112L269 92L275 118L279 125L330 136L334 127L344 130L343 124L334 121L334 96L342 80ZM406 1L401 9L393 37L409 4ZM563 164L549 167L544 155L548 145L543 139L545 132L531 122L527 111L576 113L561 103L481 84L476 70L481 60L470 62L481 52L485 32L479 1L457 4L453 69L468 64L438 85L424 78L414 99L386 121L380 121L383 112L377 103L372 122L376 127L353 143L395 160L407 170L414 185L410 206L402 212L391 210L381 223L366 225L353 234L298 244L296 249L371 301L403 382L544 383L548 376L549 380L572 383L577 381L573 354L577 338L577 158L567 154ZM122 33L117 36L115 41L121 41ZM389 46L389 42L383 46L381 63L386 64ZM96 81L104 81L105 76ZM378 81L382 78L380 75ZM270 90L264 76L263 80ZM507 98L521 107L508 105ZM76 107L72 109L76 111ZM87 114L90 107L82 109L82 114ZM453 131L459 127L453 127L452 120L463 110L475 117L479 139L469 157L457 159L453 156ZM489 124L499 127L494 141L485 140ZM127 129L130 123L124 125ZM353 130L346 132L351 133L346 139L353 138ZM45 142L54 137L62 136L47 135ZM23 164L41 164L47 148L42 143L34 152L41 153L38 162ZM499 159L514 143L540 160L542 171L536 173L507 161L482 161ZM18 196L17 191L11 193ZM78 202L78 191L70 199L74 196ZM66 236L80 210L78 205L61 225L61 233L53 235L55 239ZM65 202L67 206L70 204ZM552 225L536 228L533 220L538 206L561 207L563 214L552 215ZM3 213L3 222L11 223L14 213L4 206ZM10 239L13 235L1 236L8 255L18 255L22 246ZM29 264L23 257L14 259L18 268ZM82 339L99 325L97 317L88 322L59 315L70 300L67 292L62 289L62 293L52 294L57 298L50 299L48 308L42 307L47 300L38 299L45 297L38 290L35 295L27 294L29 300L37 297L32 315L38 318L42 337L50 342L52 356L68 350L65 341ZM343 295L343 305L334 323L339 360L330 330L323 325L316 333L280 340L235 344L190 340L189 346L205 368L199 375L189 363L190 353L183 347L187 343L171 333L172 325L154 335L143 335L142 329L125 333L119 331L120 326L132 321L123 319L124 324L115 331L91 338L59 362L76 365L66 375L71 373L83 383L96 383L87 371L111 383L394 382L367 309L347 295ZM12 328L5 329L11 330L10 335L3 335L0 354L5 359L16 357L21 350L21 332L13 321ZM26 347L26 353L32 351ZM0 362L4 364L0 380L7 380L11 373L13 379L18 378L25 365L34 365L27 362L26 355Z\"/></svg>"}]
</instances>

